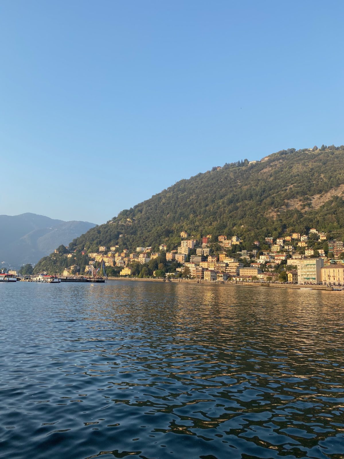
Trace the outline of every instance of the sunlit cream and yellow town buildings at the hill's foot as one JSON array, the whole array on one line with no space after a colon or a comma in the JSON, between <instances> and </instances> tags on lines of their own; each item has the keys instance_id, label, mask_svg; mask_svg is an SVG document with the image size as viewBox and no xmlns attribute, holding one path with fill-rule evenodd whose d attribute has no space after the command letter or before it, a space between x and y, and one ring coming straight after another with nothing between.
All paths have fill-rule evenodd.
<instances>
[{"instance_id":1,"label":"sunlit cream and yellow town buildings at the hill's foot","mask_svg":"<svg viewBox=\"0 0 344 459\"><path fill-rule=\"evenodd\" d=\"M328 240L327 234L311 228L308 234L291 233L254 241L251 251L240 249L242 240L234 235L208 234L200 240L186 231L180 233L180 246L167 251L165 243L156 248L138 246L130 252L119 246L99 246L98 252L83 251L89 257L85 272L100 263L116 268L120 277L162 277L194 279L199 282L283 282L291 284L344 285L343 241ZM327 250L319 248L327 244ZM230 252L230 255L228 254ZM73 253L65 256L73 257ZM152 263L156 260L159 263ZM161 263L161 261L163 263ZM171 269L168 269L171 268ZM79 272L71 265L63 276ZM151 273L150 273L151 271ZM109 271L110 275L111 272ZM142 274L143 273L143 274Z\"/></svg>"}]
</instances>

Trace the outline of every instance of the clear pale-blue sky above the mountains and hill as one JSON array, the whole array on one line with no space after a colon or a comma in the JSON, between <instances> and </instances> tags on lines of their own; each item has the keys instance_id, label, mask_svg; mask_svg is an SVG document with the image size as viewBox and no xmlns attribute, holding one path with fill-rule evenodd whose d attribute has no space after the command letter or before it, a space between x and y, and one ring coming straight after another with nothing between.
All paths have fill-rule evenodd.
<instances>
[{"instance_id":1,"label":"clear pale-blue sky above the mountains and hill","mask_svg":"<svg viewBox=\"0 0 344 459\"><path fill-rule=\"evenodd\" d=\"M342 0L0 10L0 213L101 224L212 166L344 144Z\"/></svg>"}]
</instances>

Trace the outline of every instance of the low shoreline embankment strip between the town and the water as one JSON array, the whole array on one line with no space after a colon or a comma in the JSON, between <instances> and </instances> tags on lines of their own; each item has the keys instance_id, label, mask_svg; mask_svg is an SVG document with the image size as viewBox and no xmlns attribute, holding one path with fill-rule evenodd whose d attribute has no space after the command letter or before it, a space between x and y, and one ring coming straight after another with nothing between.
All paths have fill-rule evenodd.
<instances>
[{"instance_id":1,"label":"low shoreline embankment strip between the town and the water","mask_svg":"<svg viewBox=\"0 0 344 459\"><path fill-rule=\"evenodd\" d=\"M135 277L108 277L108 280L131 280L131 281L143 281L143 282L166 282L166 283L173 283L173 284L198 284L198 285L216 285L216 286L247 286L247 287L266 287L266 288L284 288L284 289L307 289L307 290L322 290L322 291L333 291L333 287L328 287L327 285L303 285L303 284L260 284L256 282L238 282L238 283L231 283L231 282L224 282L224 283L213 283L213 282L206 282L203 280L202 282L197 282L195 279L183 279L182 281L179 280L166 280L163 279L138 279Z\"/></svg>"}]
</instances>

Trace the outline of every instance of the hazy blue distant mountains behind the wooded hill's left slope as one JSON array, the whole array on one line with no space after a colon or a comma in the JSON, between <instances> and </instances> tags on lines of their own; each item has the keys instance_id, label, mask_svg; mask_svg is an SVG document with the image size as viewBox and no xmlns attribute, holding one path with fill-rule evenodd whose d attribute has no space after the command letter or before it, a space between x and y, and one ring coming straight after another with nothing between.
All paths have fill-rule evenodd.
<instances>
[{"instance_id":1,"label":"hazy blue distant mountains behind the wooded hill's left slope","mask_svg":"<svg viewBox=\"0 0 344 459\"><path fill-rule=\"evenodd\" d=\"M67 246L94 226L94 223L64 222L35 213L0 215L0 268L37 263L57 246Z\"/></svg>"}]
</instances>

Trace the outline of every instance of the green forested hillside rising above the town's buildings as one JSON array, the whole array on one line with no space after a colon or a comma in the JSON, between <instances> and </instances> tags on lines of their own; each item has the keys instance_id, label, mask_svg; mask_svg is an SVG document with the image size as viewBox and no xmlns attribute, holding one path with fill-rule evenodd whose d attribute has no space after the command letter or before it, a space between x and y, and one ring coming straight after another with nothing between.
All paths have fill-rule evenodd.
<instances>
[{"instance_id":1,"label":"green forested hillside rising above the town's buildings","mask_svg":"<svg viewBox=\"0 0 344 459\"><path fill-rule=\"evenodd\" d=\"M284 232L305 233L315 227L336 237L344 235L344 146L278 151L261 161L247 160L214 167L123 210L107 224L74 239L76 263L84 265L84 248L100 245L134 250L162 242L167 249L185 230L198 240L206 234L238 235L250 249L253 241ZM74 261L75 262L75 261ZM43 258L36 271L61 270L58 257Z\"/></svg>"}]
</instances>

